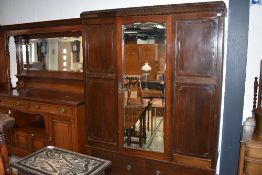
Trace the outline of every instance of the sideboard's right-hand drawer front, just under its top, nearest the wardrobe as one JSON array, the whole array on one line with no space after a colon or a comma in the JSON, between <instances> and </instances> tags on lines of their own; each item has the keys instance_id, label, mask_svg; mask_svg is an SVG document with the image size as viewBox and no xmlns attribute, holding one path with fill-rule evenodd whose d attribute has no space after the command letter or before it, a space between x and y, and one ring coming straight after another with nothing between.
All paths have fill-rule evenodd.
<instances>
[{"instance_id":1,"label":"sideboard's right-hand drawer front, just under its top, nearest the wardrobe","mask_svg":"<svg viewBox=\"0 0 262 175\"><path fill-rule=\"evenodd\" d=\"M56 115L72 116L73 108L68 106L50 105L38 102L29 102L28 108L30 111L38 111L43 113L51 113Z\"/></svg>"}]
</instances>

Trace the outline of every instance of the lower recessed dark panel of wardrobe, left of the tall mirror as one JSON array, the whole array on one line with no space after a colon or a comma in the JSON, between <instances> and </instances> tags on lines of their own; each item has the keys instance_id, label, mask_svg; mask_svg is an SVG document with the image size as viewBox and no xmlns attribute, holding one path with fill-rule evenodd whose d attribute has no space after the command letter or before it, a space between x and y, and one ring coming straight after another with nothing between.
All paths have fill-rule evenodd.
<instances>
[{"instance_id":1,"label":"lower recessed dark panel of wardrobe, left of the tall mirror","mask_svg":"<svg viewBox=\"0 0 262 175\"><path fill-rule=\"evenodd\" d=\"M102 147L117 146L117 92L116 80L88 79L87 125L88 143Z\"/></svg>"}]
</instances>

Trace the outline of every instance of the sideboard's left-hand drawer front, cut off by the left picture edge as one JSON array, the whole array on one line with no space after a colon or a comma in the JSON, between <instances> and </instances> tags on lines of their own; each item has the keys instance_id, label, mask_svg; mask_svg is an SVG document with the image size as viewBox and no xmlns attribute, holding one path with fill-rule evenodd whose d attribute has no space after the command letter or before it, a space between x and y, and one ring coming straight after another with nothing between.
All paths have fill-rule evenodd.
<instances>
[{"instance_id":1,"label":"sideboard's left-hand drawer front, cut off by the left picture edge","mask_svg":"<svg viewBox=\"0 0 262 175\"><path fill-rule=\"evenodd\" d=\"M27 103L25 100L14 98L1 98L0 105L20 110L26 110L27 107Z\"/></svg>"}]
</instances>

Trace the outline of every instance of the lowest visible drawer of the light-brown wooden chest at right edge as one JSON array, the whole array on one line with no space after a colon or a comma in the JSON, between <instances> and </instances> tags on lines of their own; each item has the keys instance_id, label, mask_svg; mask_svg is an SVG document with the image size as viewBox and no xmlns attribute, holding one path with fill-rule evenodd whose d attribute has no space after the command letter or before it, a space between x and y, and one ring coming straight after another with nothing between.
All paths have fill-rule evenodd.
<instances>
[{"instance_id":1,"label":"lowest visible drawer of the light-brown wooden chest at right edge","mask_svg":"<svg viewBox=\"0 0 262 175\"><path fill-rule=\"evenodd\" d=\"M246 175L261 175L262 174L262 160L246 159L245 174Z\"/></svg>"}]
</instances>

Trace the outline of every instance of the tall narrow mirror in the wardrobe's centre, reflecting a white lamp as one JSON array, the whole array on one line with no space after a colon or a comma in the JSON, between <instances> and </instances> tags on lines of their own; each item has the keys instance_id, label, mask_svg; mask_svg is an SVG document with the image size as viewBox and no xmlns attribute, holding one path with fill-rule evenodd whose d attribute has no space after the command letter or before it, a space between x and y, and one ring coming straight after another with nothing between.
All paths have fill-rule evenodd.
<instances>
[{"instance_id":1,"label":"tall narrow mirror in the wardrobe's centre, reflecting a white lamp","mask_svg":"<svg viewBox=\"0 0 262 175\"><path fill-rule=\"evenodd\" d=\"M166 24L123 30L124 146L164 151Z\"/></svg>"}]
</instances>

